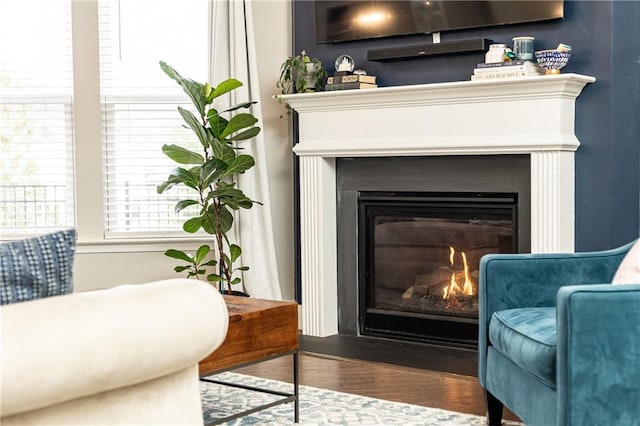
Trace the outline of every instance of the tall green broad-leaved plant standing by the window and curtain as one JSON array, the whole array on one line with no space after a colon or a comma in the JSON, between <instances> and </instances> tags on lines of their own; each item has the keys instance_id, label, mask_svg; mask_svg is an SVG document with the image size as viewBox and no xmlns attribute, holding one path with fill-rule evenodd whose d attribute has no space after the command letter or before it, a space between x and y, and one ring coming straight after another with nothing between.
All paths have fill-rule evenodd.
<instances>
[{"instance_id":1,"label":"tall green broad-leaved plant standing by the window and curtain","mask_svg":"<svg viewBox=\"0 0 640 426\"><path fill-rule=\"evenodd\" d=\"M222 293L237 293L231 291L231 286L241 282L238 275L249 267L233 267L242 250L228 237L233 227L232 210L250 209L258 202L248 198L237 187L237 176L252 168L255 160L251 155L239 154L234 143L260 133L260 128L255 126L257 118L247 112L238 112L256 102L244 102L218 111L213 107L213 101L242 86L240 81L231 78L213 87L210 83L198 83L182 77L165 62L160 62L160 68L191 99L197 116L182 107L178 107L178 111L196 135L202 150L195 152L178 145L163 145L162 152L179 167L158 185L157 191L161 194L175 185L192 189L193 197L180 200L175 206L176 212L186 208L198 210L182 228L188 233L202 229L214 236L213 249L204 244L193 255L175 249L167 250L165 255L186 262L176 266L176 272L186 272L189 278L204 277L216 284ZM207 268L215 268L215 272L207 274Z\"/></svg>"}]
</instances>

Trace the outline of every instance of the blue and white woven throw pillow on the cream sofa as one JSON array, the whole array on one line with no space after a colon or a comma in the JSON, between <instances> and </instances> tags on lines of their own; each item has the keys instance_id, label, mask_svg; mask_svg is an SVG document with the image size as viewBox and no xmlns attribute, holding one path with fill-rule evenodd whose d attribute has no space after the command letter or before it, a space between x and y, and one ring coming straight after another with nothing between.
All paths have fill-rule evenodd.
<instances>
[{"instance_id":1,"label":"blue and white woven throw pillow on the cream sofa","mask_svg":"<svg viewBox=\"0 0 640 426\"><path fill-rule=\"evenodd\" d=\"M71 293L75 244L74 229L0 244L0 304Z\"/></svg>"}]
</instances>

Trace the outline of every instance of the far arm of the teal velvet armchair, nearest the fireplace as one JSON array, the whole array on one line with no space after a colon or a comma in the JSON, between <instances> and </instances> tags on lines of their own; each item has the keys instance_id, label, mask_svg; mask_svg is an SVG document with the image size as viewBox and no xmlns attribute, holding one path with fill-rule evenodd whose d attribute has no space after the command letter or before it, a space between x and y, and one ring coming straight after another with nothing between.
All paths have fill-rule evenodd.
<instances>
[{"instance_id":1,"label":"far arm of the teal velvet armchair, nearest the fireplace","mask_svg":"<svg viewBox=\"0 0 640 426\"><path fill-rule=\"evenodd\" d=\"M480 260L478 376L484 385L489 321L494 312L554 306L558 289L610 283L633 243L611 250L556 254L490 254Z\"/></svg>"}]
</instances>

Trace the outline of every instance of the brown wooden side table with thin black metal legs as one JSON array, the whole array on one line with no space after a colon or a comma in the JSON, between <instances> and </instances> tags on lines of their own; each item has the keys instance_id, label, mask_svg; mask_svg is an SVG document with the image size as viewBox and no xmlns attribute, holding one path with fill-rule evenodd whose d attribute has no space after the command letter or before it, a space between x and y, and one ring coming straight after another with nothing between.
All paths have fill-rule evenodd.
<instances>
[{"instance_id":1,"label":"brown wooden side table with thin black metal legs","mask_svg":"<svg viewBox=\"0 0 640 426\"><path fill-rule=\"evenodd\" d=\"M287 402L293 402L294 422L298 423L298 304L226 295L224 299L229 310L229 331L222 345L198 364L200 380L270 393L283 398L209 424L223 423ZM206 378L214 373L285 355L293 357L293 393Z\"/></svg>"}]
</instances>

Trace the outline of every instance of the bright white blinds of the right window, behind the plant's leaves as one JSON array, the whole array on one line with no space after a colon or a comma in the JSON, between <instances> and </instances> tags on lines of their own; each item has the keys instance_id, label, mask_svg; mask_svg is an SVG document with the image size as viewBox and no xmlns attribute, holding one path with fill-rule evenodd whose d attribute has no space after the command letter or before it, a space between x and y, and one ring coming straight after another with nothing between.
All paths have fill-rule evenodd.
<instances>
[{"instance_id":1,"label":"bright white blinds of the right window, behind the plant's leaves","mask_svg":"<svg viewBox=\"0 0 640 426\"><path fill-rule=\"evenodd\" d=\"M175 168L161 148L200 144L177 111L192 109L187 96L158 63L206 81L208 22L207 0L100 0L107 237L184 235L173 211L181 189L156 193Z\"/></svg>"}]
</instances>

